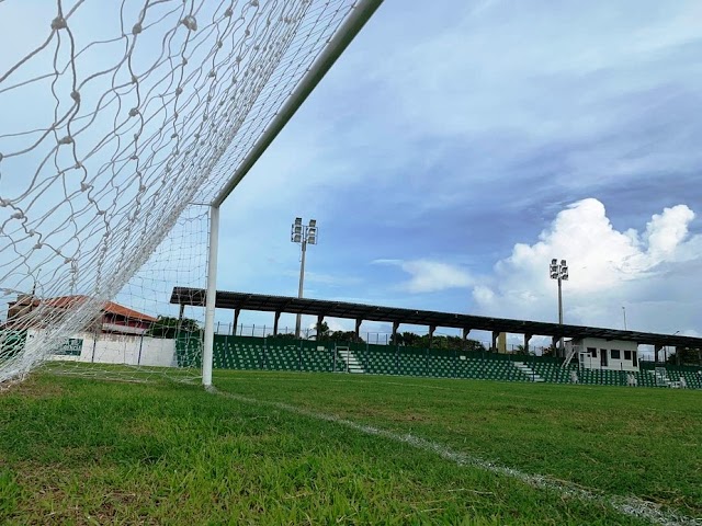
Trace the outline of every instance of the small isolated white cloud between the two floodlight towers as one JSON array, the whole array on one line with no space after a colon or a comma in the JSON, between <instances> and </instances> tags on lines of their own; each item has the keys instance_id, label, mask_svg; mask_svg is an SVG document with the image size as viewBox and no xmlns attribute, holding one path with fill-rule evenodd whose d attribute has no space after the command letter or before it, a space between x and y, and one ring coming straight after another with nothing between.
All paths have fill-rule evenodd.
<instances>
[{"instance_id":1,"label":"small isolated white cloud between the two floodlight towers","mask_svg":"<svg viewBox=\"0 0 702 526\"><path fill-rule=\"evenodd\" d=\"M467 288L475 283L473 276L464 268L431 260L375 260L375 264L397 265L409 279L397 288L411 294L437 293L450 288Z\"/></svg>"}]
</instances>

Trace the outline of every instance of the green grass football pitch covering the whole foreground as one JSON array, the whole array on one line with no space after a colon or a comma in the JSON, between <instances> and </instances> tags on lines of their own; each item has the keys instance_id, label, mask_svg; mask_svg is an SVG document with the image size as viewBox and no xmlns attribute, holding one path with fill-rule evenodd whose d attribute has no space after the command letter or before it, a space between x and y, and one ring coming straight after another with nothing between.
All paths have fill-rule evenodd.
<instances>
[{"instance_id":1,"label":"green grass football pitch covering the whole foreground","mask_svg":"<svg viewBox=\"0 0 702 526\"><path fill-rule=\"evenodd\" d=\"M36 374L0 392L0 524L701 524L701 392L215 385Z\"/></svg>"}]
</instances>

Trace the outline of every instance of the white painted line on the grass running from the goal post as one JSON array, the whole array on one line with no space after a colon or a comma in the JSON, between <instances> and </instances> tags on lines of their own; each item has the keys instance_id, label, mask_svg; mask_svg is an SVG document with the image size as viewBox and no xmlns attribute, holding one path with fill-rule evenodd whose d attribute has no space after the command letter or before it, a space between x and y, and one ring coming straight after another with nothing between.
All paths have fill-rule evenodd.
<instances>
[{"instance_id":1,"label":"white painted line on the grass running from the goal post","mask_svg":"<svg viewBox=\"0 0 702 526\"><path fill-rule=\"evenodd\" d=\"M524 473L523 471L519 471L517 469L507 468L503 466L497 466L495 464L473 457L465 453L454 451L453 449L442 444L439 444L432 441L427 441L426 438L415 436L410 433L406 433L406 434L394 433L392 431L382 430L380 427L374 427L372 425L359 424L358 422L341 419L333 414L317 413L315 411L308 411L306 409L297 408L288 403L258 400L256 398L249 398L241 395L219 391L214 387L210 387L207 390L215 395L219 395L225 398L230 398L239 402L252 403L256 405L270 405L272 408L276 408L282 411L286 411L288 413L295 413L302 416L307 416L315 420L322 420L326 422L332 422L335 424L343 425L344 427L349 427L351 430L358 431L366 435L381 436L383 438L387 438L393 442L407 444L422 451L434 453L439 455L441 458L443 458L444 460L449 460L450 462L453 462L457 466L471 466L471 467L479 468L485 471L489 471L491 473L501 474L505 477L510 477L512 479L520 480L521 482L528 485L531 485L532 488L537 488L541 490L552 490L566 496L576 496L584 501L600 502L602 504L607 504L613 507L614 510L616 510L618 512L624 515L633 516L636 518L643 518L654 524L660 524L664 526L702 526L701 519L688 517L684 515L679 515L673 512L663 511L659 505L653 502L644 501L633 496L605 495L603 492L585 489L575 483L568 483L566 481L550 479L548 477L544 477L541 474L529 474L529 473Z\"/></svg>"}]
</instances>

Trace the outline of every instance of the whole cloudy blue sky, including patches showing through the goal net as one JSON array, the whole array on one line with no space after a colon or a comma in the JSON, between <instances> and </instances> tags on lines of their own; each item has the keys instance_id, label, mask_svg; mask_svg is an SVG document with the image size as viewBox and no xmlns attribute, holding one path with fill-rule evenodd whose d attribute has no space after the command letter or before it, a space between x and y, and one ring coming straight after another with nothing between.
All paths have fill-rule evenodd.
<instances>
[{"instance_id":1,"label":"whole cloudy blue sky, including patches showing through the goal net","mask_svg":"<svg viewBox=\"0 0 702 526\"><path fill-rule=\"evenodd\" d=\"M0 71L42 45L56 10L48 3L3 3L0 44L8 53L0 56ZM129 3L131 11L110 16L102 14L105 5L83 2L69 21L77 49L82 49L79 78L121 59L121 46L129 38L140 43L134 55L143 59L160 53L163 32L174 32L173 49L191 35L179 22L180 2L149 11L147 19L160 22L147 24L138 38L122 35L121 26L133 26L140 4ZM158 9L171 7L173 23L159 19ZM248 12L251 4L241 7ZM205 12L199 18L200 30L191 36L204 42L214 33L205 30ZM107 38L115 34L114 41ZM102 38L107 39L88 45ZM61 42L60 53L54 52L53 41L22 65L21 75L13 73L14 88L0 90L0 152L21 149L18 145L29 141L32 130L53 123L59 99L61 108L75 104L70 68L52 88L54 61L69 58L69 41ZM208 49L203 46L199 53ZM319 244L308 251L308 297L555 321L556 286L547 266L558 258L570 264L564 287L566 322L622 328L625 307L630 329L702 334L697 293L702 289L701 52L702 5L695 1L387 0L223 205L218 288L296 295L299 249L290 242L290 225L302 216L317 219L320 229ZM182 106L182 115L204 111L203 87L211 77L202 70L206 60L197 57L189 62L194 80L182 84L191 101ZM174 70L166 62L168 79ZM160 75L143 71L141 88L158 83ZM39 77L42 82L23 84ZM129 79L125 85L133 84ZM101 76L80 84L84 111L117 80ZM165 89L174 93L174 85ZM158 93L151 93L154 100ZM76 139L80 159L87 159L91 140L115 134L111 112L127 123L117 134L125 140L138 121L124 115L132 105L165 118L137 100L133 89L111 101L110 108L101 108L107 118ZM222 112L211 114L212 122L224 118ZM174 114L172 118L178 121ZM25 134L16 135L18 129ZM145 136L155 129L145 129ZM200 128L182 128L182 140L190 146L197 142L188 133L193 129ZM222 132L212 129L213 135ZM181 141L178 134L168 137L158 141L159 156L171 151L171 139ZM107 156L113 155L111 146L104 147ZM82 167L93 170L93 179L83 181L64 149L53 159L55 167L44 167L52 178L44 188L26 176L42 162L42 148L2 161L0 196L10 196L35 221L57 203L71 205L36 227L53 228L55 244L64 243L66 253L49 250L46 238L33 248L35 238L23 231L22 218L3 205L3 225L15 229L9 232L11 242L0 245L0 267L18 282L3 284L8 297L29 290L38 268L39 294L68 294L39 256L65 270L73 254L82 265L76 272L79 285L94 284L103 233L92 219L98 202L111 210L105 231L120 237L111 244L114 270L127 275L132 268L126 266L139 260L131 253L133 247L143 255L144 245L155 245L146 237L160 236L159 226L169 222L160 218L178 208L173 203L179 198L184 202L182 188L200 187L193 181L206 172L180 170L173 181L155 162L147 164L144 180L136 172L137 184L135 172L124 168L128 159L107 162L124 168L111 178L94 170L109 159L98 156L88 159L92 167ZM215 150L193 151L207 157ZM223 173L215 173L211 183L220 182ZM36 204L30 204L32 194L22 194L25 179L41 195ZM91 181L105 188L94 203L83 184ZM137 206L141 216L135 219L128 192L158 196L154 203L162 203L163 209L151 220L152 206ZM112 207L113 194L122 208ZM65 221L83 221L88 230L64 232L61 214ZM188 214L194 217L199 210ZM122 228L129 221L149 228L134 236ZM204 286L203 227L194 220L180 239L178 230L176 242L165 243L118 299L150 313L171 313L166 301L173 285ZM86 232L89 239L81 238ZM64 235L68 241L58 239ZM18 258L24 249L37 259L25 264ZM230 316L219 312L217 319L229 322ZM271 325L272 320L270 313L240 318L249 325ZM281 321L294 324L290 316ZM350 321L328 321L335 329L352 328ZM365 323L362 330L387 332L389 327Z\"/></svg>"}]
</instances>

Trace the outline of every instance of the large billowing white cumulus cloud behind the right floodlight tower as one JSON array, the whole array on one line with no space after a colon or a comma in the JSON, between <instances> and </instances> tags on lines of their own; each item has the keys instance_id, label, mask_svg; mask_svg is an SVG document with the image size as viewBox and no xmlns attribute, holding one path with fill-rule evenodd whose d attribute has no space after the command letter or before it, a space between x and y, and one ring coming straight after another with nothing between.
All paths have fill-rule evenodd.
<instances>
[{"instance_id":1,"label":"large billowing white cumulus cloud behind the right floodlight tower","mask_svg":"<svg viewBox=\"0 0 702 526\"><path fill-rule=\"evenodd\" d=\"M562 210L532 244L517 243L473 288L482 313L555 321L556 284L548 262L566 259L566 323L693 332L702 329L697 312L702 299L702 236L690 235L695 215L686 205L654 214L641 229L620 231L597 199Z\"/></svg>"}]
</instances>

